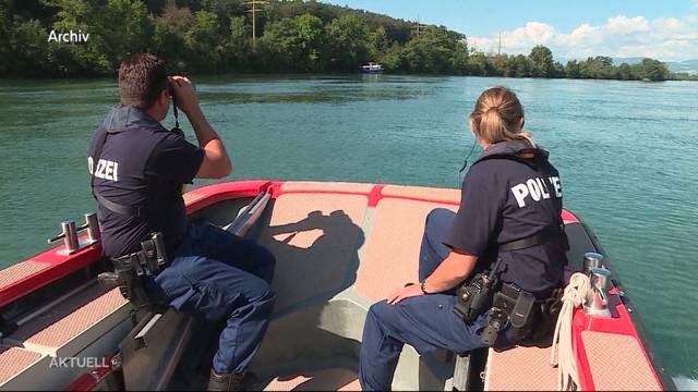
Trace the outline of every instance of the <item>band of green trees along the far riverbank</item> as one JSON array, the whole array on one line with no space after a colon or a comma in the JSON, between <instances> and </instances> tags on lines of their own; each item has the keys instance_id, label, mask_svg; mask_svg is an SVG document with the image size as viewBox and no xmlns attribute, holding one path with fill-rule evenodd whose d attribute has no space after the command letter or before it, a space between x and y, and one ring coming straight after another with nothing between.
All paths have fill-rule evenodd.
<instances>
[{"instance_id":1,"label":"band of green trees along the far riverbank","mask_svg":"<svg viewBox=\"0 0 698 392\"><path fill-rule=\"evenodd\" d=\"M0 77L113 75L121 59L158 53L172 72L347 73L369 61L387 72L507 77L665 81L665 64L609 57L563 65L544 46L530 54L488 54L444 26L301 0L9 0L0 2ZM87 42L49 33L89 34Z\"/></svg>"}]
</instances>

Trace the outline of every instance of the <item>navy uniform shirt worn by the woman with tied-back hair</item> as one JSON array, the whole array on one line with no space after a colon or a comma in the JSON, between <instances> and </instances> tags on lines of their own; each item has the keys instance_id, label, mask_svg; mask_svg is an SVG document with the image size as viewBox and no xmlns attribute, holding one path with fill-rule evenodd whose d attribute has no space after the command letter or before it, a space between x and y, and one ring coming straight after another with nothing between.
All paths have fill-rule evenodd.
<instances>
[{"instance_id":1,"label":"navy uniform shirt worn by the woman with tied-back hair","mask_svg":"<svg viewBox=\"0 0 698 392\"><path fill-rule=\"evenodd\" d=\"M533 150L528 163L502 158L531 150L527 142L490 146L470 168L462 184L460 208L444 244L479 257L476 271L502 257L503 282L545 295L561 284L564 249L554 237L541 245L497 252L497 244L525 238L561 223L562 186L547 152ZM520 159L520 158L519 158Z\"/></svg>"}]
</instances>

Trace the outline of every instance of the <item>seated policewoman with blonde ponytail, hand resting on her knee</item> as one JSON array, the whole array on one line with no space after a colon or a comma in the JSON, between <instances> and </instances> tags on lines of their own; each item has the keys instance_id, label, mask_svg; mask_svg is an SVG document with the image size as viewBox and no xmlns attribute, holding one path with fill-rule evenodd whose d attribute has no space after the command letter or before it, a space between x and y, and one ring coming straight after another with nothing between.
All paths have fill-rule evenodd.
<instances>
[{"instance_id":1,"label":"seated policewoman with blonde ponytail, hand resting on her knee","mask_svg":"<svg viewBox=\"0 0 698 392\"><path fill-rule=\"evenodd\" d=\"M458 212L429 215L419 284L399 287L369 309L359 367L364 390L390 388L405 343L420 354L486 345L482 331L493 310L469 322L453 313L453 289L476 272L494 265L502 285L539 302L561 284L559 177L547 152L522 131L521 103L507 88L490 88L478 98L469 122L484 151L466 175ZM526 338L512 329L498 333L495 344Z\"/></svg>"}]
</instances>

